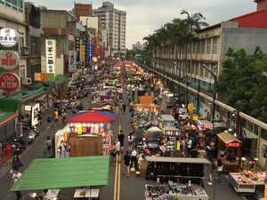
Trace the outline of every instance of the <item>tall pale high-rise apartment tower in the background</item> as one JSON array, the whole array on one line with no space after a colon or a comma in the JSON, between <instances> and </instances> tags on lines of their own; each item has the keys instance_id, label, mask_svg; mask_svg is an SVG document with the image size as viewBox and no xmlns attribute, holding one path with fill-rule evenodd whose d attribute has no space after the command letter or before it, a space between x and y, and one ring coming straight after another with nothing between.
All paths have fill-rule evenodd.
<instances>
[{"instance_id":1,"label":"tall pale high-rise apartment tower in the background","mask_svg":"<svg viewBox=\"0 0 267 200\"><path fill-rule=\"evenodd\" d=\"M103 2L93 10L93 15L100 20L100 28L108 31L108 45L112 55L125 54L126 12L114 8L114 4Z\"/></svg>"}]
</instances>

